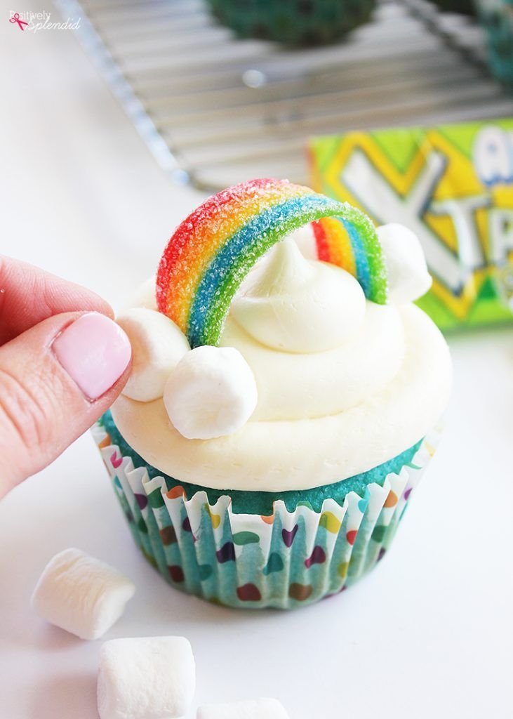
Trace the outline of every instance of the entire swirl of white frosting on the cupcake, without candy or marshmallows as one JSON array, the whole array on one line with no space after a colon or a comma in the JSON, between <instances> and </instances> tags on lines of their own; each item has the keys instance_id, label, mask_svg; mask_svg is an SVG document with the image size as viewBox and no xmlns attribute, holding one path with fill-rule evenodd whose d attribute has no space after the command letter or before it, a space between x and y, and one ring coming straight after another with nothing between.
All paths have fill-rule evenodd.
<instances>
[{"instance_id":1,"label":"entire swirl of white frosting on the cupcake, without candy or marshmallows","mask_svg":"<svg viewBox=\"0 0 513 719\"><path fill-rule=\"evenodd\" d=\"M113 407L136 452L185 482L276 492L343 480L415 444L448 401L448 347L420 309L366 302L347 273L290 244L244 283L221 345L239 350L258 388L233 434L185 439L162 398Z\"/></svg>"}]
</instances>

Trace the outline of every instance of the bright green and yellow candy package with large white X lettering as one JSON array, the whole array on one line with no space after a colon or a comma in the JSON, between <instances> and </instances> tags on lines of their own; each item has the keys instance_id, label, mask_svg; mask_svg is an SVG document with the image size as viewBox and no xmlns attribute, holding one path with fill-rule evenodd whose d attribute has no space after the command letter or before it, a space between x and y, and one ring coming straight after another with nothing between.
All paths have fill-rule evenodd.
<instances>
[{"instance_id":1,"label":"bright green and yellow candy package with large white X lettering","mask_svg":"<svg viewBox=\"0 0 513 719\"><path fill-rule=\"evenodd\" d=\"M419 237L441 329L513 318L513 118L310 141L313 187Z\"/></svg>"}]
</instances>

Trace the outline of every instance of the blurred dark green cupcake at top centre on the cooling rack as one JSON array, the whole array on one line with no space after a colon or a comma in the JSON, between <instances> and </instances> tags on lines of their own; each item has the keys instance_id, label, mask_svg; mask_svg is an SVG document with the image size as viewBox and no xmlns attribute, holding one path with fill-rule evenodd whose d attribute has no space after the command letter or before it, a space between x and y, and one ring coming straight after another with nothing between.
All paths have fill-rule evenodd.
<instances>
[{"instance_id":1,"label":"blurred dark green cupcake at top centre on the cooling rack","mask_svg":"<svg viewBox=\"0 0 513 719\"><path fill-rule=\"evenodd\" d=\"M239 37L284 45L326 45L367 22L375 0L207 0Z\"/></svg>"}]
</instances>

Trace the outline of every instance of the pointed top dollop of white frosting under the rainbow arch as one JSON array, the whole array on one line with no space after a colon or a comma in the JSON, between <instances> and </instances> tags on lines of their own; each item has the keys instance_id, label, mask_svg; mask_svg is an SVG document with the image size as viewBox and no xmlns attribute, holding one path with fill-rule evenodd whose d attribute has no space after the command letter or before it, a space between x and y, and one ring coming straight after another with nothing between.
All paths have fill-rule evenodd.
<instances>
[{"instance_id":1,"label":"pointed top dollop of white frosting under the rainbow arch","mask_svg":"<svg viewBox=\"0 0 513 719\"><path fill-rule=\"evenodd\" d=\"M341 267L305 260L284 239L250 273L231 316L258 342L282 352L324 352L361 326L365 295Z\"/></svg>"}]
</instances>

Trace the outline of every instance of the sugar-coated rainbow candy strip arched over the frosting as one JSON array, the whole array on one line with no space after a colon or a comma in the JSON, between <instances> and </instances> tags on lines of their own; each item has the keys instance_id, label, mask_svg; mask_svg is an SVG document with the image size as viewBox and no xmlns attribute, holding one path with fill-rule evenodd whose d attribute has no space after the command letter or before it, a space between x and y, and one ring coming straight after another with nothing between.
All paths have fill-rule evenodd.
<instances>
[{"instance_id":1,"label":"sugar-coated rainbow candy strip arched over the frosting","mask_svg":"<svg viewBox=\"0 0 513 719\"><path fill-rule=\"evenodd\" d=\"M208 198L160 260L157 305L191 347L216 345L237 288L273 244L312 222L318 258L339 265L369 300L387 302L387 273L369 217L288 180L249 180Z\"/></svg>"}]
</instances>

